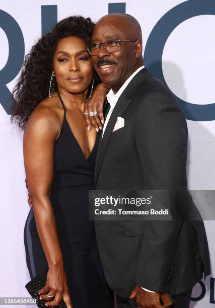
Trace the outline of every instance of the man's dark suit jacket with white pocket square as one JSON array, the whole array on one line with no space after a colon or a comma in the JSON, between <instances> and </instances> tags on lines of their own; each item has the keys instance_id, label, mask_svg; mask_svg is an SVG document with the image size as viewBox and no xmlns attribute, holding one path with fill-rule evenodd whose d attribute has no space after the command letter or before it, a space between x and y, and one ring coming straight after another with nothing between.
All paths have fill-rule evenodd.
<instances>
[{"instance_id":1,"label":"man's dark suit jacket with white pocket square","mask_svg":"<svg viewBox=\"0 0 215 308\"><path fill-rule=\"evenodd\" d=\"M125 120L114 132L117 117ZM120 96L100 141L96 190L186 190L187 125L171 93L140 70ZM202 221L96 221L109 286L180 294L210 273Z\"/></svg>"}]
</instances>

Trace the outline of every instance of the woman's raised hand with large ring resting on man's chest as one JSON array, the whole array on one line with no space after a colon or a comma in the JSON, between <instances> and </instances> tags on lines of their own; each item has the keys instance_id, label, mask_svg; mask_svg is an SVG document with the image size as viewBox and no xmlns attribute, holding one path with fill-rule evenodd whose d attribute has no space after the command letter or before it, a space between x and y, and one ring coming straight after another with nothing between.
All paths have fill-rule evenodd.
<instances>
[{"instance_id":1,"label":"woman's raised hand with large ring resting on man's chest","mask_svg":"<svg viewBox=\"0 0 215 308\"><path fill-rule=\"evenodd\" d=\"M91 130L93 126L95 130L98 132L99 129L102 129L102 124L104 124L104 116L103 116L103 105L106 98L106 94L109 92L110 87L104 85L103 83L99 84L94 91L92 98L85 103L85 121L88 130ZM97 115L93 117L90 116L90 112L97 112Z\"/></svg>"}]
</instances>

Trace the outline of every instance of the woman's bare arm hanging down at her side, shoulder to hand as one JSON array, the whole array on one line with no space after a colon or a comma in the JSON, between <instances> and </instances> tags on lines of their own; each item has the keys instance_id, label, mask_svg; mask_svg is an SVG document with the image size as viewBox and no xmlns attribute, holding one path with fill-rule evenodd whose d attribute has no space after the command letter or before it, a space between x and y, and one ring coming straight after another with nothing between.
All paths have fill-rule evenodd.
<instances>
[{"instance_id":1,"label":"woman's bare arm hanging down at her side, shoulder to hand","mask_svg":"<svg viewBox=\"0 0 215 308\"><path fill-rule=\"evenodd\" d=\"M47 305L59 304L63 297L71 301L68 293L63 258L57 236L50 191L53 180L54 141L60 123L50 108L39 107L31 115L24 133L24 164L34 210L38 235L48 262L46 286L40 290L41 297L50 300L44 293L49 291L55 298ZM71 308L71 304L67 304Z\"/></svg>"}]
</instances>

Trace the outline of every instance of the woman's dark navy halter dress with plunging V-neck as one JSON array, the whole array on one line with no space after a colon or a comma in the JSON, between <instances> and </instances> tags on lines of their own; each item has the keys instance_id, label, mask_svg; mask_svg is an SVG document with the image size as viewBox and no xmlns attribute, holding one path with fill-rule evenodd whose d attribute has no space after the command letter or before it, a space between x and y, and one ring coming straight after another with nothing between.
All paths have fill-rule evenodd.
<instances>
[{"instance_id":1,"label":"woman's dark navy halter dress with plunging V-neck","mask_svg":"<svg viewBox=\"0 0 215 308\"><path fill-rule=\"evenodd\" d=\"M59 94L58 94L59 95ZM103 274L94 221L89 220L88 191L93 190L98 135L88 159L64 117L54 145L51 204L64 268L74 308L113 308L113 295ZM27 266L31 278L48 267L31 208L24 230Z\"/></svg>"}]
</instances>

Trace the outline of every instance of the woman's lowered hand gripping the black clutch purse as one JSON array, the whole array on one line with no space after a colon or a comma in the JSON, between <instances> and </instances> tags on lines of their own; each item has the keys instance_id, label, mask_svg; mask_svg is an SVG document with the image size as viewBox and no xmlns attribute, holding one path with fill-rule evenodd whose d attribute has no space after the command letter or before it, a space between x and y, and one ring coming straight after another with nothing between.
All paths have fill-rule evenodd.
<instances>
[{"instance_id":1,"label":"woman's lowered hand gripping the black clutch purse","mask_svg":"<svg viewBox=\"0 0 215 308\"><path fill-rule=\"evenodd\" d=\"M47 292L48 294L45 294ZM49 268L46 285L44 288L39 290L39 294L40 299L47 301L45 303L46 306L57 306L61 298L63 298L66 303L66 307L73 308L63 266ZM50 297L51 295L54 296Z\"/></svg>"}]
</instances>

